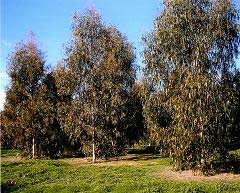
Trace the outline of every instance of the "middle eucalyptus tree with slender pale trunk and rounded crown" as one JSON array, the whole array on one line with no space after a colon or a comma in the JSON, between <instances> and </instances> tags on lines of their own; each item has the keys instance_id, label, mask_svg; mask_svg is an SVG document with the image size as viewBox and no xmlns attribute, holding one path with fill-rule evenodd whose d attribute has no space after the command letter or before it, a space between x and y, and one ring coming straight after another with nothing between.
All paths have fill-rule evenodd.
<instances>
[{"instance_id":1,"label":"middle eucalyptus tree with slender pale trunk and rounded crown","mask_svg":"<svg viewBox=\"0 0 240 193\"><path fill-rule=\"evenodd\" d=\"M64 127L76 140L85 136L93 163L96 153L107 157L122 150L123 106L134 83L133 62L132 45L116 27L106 26L99 13L74 14L65 70L74 80L71 108L66 112L76 119L72 125L65 121Z\"/></svg>"}]
</instances>

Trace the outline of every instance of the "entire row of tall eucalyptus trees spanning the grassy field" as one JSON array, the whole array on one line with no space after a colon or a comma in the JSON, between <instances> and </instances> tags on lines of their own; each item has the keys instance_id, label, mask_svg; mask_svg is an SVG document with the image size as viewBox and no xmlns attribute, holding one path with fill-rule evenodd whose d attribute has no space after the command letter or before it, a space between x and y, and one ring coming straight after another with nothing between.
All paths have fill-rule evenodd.
<instances>
[{"instance_id":1,"label":"entire row of tall eucalyptus trees spanning the grassy field","mask_svg":"<svg viewBox=\"0 0 240 193\"><path fill-rule=\"evenodd\" d=\"M74 15L53 70L30 38L9 58L2 146L33 157L80 152L95 162L144 139L176 169L212 169L240 146L238 19L229 0L164 1L143 38L138 83L132 44L94 10Z\"/></svg>"}]
</instances>

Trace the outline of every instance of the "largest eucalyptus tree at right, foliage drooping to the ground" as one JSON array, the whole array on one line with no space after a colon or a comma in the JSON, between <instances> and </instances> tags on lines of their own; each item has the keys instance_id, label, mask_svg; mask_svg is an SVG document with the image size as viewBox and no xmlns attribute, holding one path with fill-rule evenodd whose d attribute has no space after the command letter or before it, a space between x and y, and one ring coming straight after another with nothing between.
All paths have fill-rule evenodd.
<instances>
[{"instance_id":1,"label":"largest eucalyptus tree at right, foliage drooping to the ground","mask_svg":"<svg viewBox=\"0 0 240 193\"><path fill-rule=\"evenodd\" d=\"M238 54L238 17L229 0L165 0L143 38L146 123L177 169L208 170L226 155L236 97L219 88Z\"/></svg>"}]
</instances>

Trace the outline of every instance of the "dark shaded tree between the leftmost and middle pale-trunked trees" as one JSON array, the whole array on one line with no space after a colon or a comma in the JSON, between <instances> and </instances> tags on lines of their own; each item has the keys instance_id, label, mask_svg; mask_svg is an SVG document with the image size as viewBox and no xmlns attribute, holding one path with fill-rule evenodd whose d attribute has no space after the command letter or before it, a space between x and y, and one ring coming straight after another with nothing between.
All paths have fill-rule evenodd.
<instances>
[{"instance_id":1,"label":"dark shaded tree between the leftmost and middle pale-trunked trees","mask_svg":"<svg viewBox=\"0 0 240 193\"><path fill-rule=\"evenodd\" d=\"M36 97L38 124L41 126L38 132L38 152L50 158L61 156L65 150L70 149L69 139L60 125L58 115L60 95L54 72L52 70L45 74Z\"/></svg>"}]
</instances>

